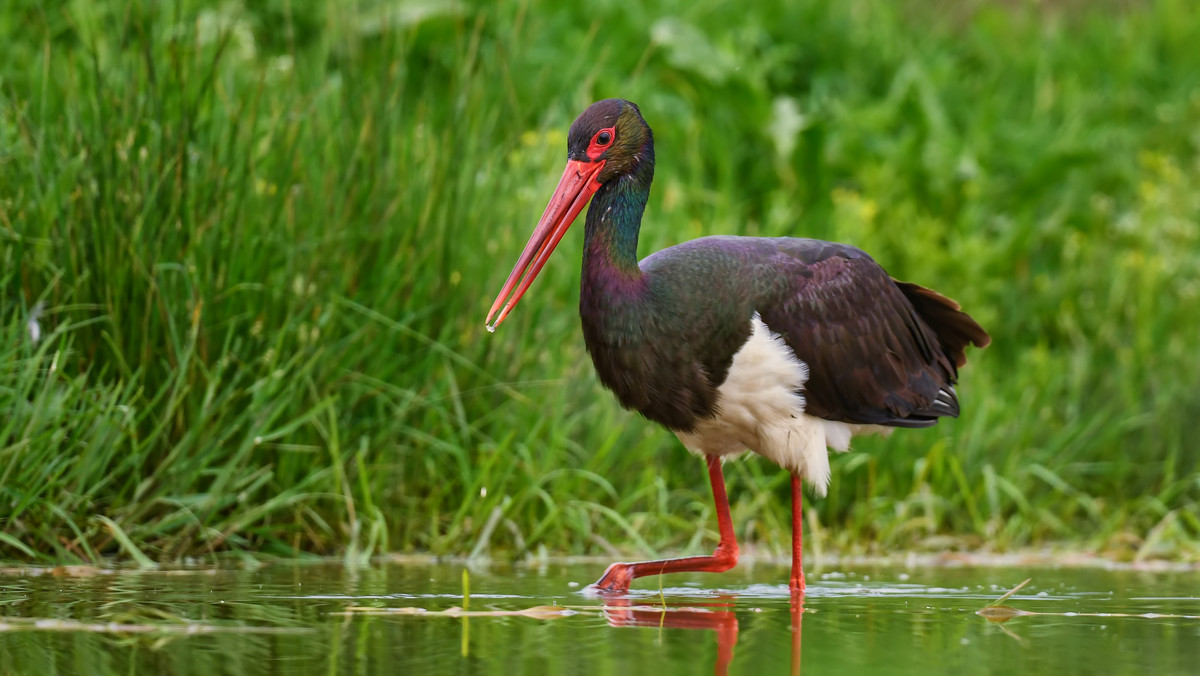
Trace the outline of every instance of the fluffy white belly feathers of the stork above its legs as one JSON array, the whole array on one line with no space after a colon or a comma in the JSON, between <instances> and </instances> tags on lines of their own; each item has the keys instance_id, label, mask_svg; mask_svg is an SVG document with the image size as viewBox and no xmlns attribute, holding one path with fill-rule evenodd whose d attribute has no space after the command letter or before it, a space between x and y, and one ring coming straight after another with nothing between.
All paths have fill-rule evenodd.
<instances>
[{"instance_id":1,"label":"fluffy white belly feathers of the stork above its legs","mask_svg":"<svg viewBox=\"0 0 1200 676\"><path fill-rule=\"evenodd\" d=\"M754 316L750 340L733 355L718 388L716 415L691 432L677 432L700 455L736 455L752 450L803 475L818 496L829 486L829 453L850 450L850 438L890 427L823 420L804 413L809 367L778 334Z\"/></svg>"}]
</instances>

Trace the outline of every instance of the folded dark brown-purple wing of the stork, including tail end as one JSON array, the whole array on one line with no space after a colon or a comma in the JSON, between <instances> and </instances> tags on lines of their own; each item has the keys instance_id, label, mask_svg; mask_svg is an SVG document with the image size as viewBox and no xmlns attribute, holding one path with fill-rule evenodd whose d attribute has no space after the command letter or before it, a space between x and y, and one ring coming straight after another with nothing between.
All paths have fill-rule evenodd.
<instances>
[{"instance_id":1,"label":"folded dark brown-purple wing of the stork, including tail end","mask_svg":"<svg viewBox=\"0 0 1200 676\"><path fill-rule=\"evenodd\" d=\"M780 240L772 263L786 280L757 310L809 365L808 413L900 427L958 415L964 348L989 337L954 301L852 247Z\"/></svg>"}]
</instances>

